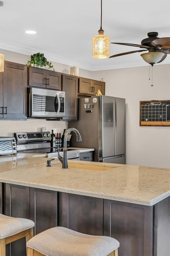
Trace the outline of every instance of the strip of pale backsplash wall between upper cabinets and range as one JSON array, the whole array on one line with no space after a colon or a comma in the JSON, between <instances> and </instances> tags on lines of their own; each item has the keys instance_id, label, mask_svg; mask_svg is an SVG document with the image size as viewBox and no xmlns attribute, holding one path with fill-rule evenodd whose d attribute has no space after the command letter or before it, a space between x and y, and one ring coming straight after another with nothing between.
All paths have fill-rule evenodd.
<instances>
[{"instance_id":1,"label":"strip of pale backsplash wall between upper cabinets and range","mask_svg":"<svg viewBox=\"0 0 170 256\"><path fill-rule=\"evenodd\" d=\"M63 130L68 127L65 121L46 121L44 119L3 120L0 121L0 136L14 136L15 132L35 132L41 131L41 127L47 127L47 131L57 128L57 133L63 134Z\"/></svg>"}]
</instances>

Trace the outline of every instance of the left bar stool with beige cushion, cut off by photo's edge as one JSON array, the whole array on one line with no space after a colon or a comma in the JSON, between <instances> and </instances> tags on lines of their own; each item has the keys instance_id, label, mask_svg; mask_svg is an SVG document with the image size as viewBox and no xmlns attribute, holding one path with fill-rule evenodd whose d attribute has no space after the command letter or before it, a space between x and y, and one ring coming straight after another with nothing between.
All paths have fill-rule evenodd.
<instances>
[{"instance_id":1,"label":"left bar stool with beige cushion, cut off by photo's edge","mask_svg":"<svg viewBox=\"0 0 170 256\"><path fill-rule=\"evenodd\" d=\"M30 219L13 218L0 214L0 256L6 255L6 245L25 237L33 237L34 222Z\"/></svg>"}]
</instances>

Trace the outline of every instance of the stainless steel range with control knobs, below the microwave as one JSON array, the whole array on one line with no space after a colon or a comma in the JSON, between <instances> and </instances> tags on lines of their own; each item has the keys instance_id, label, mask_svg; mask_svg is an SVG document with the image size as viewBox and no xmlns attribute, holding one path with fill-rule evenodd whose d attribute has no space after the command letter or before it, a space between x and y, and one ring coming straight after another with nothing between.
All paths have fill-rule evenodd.
<instances>
[{"instance_id":1,"label":"stainless steel range with control knobs, below the microwave","mask_svg":"<svg viewBox=\"0 0 170 256\"><path fill-rule=\"evenodd\" d=\"M51 148L50 132L35 133L14 133L16 139L17 152L46 154L49 158L58 158L58 149ZM63 156L63 150L60 148L60 155ZM80 160L80 151L68 149L67 158Z\"/></svg>"}]
</instances>

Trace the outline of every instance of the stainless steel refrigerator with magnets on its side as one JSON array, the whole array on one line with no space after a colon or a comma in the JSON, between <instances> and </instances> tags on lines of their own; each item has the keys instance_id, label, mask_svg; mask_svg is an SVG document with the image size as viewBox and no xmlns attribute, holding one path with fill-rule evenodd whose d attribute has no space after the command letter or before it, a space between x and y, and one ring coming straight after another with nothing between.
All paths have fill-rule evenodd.
<instances>
[{"instance_id":1,"label":"stainless steel refrigerator with magnets on its side","mask_svg":"<svg viewBox=\"0 0 170 256\"><path fill-rule=\"evenodd\" d=\"M94 161L126 163L125 99L94 96L78 99L78 121L69 122L78 129L82 141L73 133L72 147L94 148Z\"/></svg>"}]
</instances>

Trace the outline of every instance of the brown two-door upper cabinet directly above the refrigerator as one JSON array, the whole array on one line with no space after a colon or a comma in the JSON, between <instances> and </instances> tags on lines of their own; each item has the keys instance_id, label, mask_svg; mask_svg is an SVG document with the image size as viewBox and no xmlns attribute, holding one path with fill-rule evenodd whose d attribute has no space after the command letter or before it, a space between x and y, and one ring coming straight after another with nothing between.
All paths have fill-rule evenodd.
<instances>
[{"instance_id":1,"label":"brown two-door upper cabinet directly above the refrigerator","mask_svg":"<svg viewBox=\"0 0 170 256\"><path fill-rule=\"evenodd\" d=\"M88 78L79 78L79 90L80 95L96 95L97 91L100 90L105 95L105 82L95 81Z\"/></svg>"}]
</instances>

